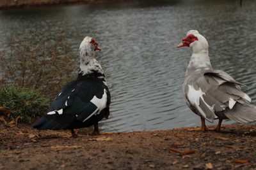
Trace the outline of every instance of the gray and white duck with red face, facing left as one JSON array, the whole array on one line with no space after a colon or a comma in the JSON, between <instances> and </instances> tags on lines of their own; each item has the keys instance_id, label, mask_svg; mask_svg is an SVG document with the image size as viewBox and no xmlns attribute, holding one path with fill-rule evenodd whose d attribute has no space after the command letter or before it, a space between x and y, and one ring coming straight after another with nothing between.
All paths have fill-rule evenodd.
<instances>
[{"instance_id":1,"label":"gray and white duck with red face, facing left","mask_svg":"<svg viewBox=\"0 0 256 170\"><path fill-rule=\"evenodd\" d=\"M256 120L256 106L234 80L221 70L212 69L207 40L196 30L187 32L177 47L189 46L193 54L189 61L182 86L186 104L201 118L202 127L194 130L207 131L205 120L219 119L216 131L220 131L223 119L240 123Z\"/></svg>"}]
</instances>

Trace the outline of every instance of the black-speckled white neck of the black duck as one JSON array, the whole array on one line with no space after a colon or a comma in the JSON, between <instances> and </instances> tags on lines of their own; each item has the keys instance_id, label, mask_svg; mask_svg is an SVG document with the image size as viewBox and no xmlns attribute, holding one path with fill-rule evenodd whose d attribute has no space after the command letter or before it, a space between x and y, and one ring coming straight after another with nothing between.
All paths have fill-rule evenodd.
<instances>
[{"instance_id":1,"label":"black-speckled white neck of the black duck","mask_svg":"<svg viewBox=\"0 0 256 170\"><path fill-rule=\"evenodd\" d=\"M104 71L96 59L93 57L81 56L80 62L77 80L99 78L102 81L105 81Z\"/></svg>"}]
</instances>

